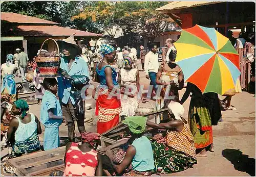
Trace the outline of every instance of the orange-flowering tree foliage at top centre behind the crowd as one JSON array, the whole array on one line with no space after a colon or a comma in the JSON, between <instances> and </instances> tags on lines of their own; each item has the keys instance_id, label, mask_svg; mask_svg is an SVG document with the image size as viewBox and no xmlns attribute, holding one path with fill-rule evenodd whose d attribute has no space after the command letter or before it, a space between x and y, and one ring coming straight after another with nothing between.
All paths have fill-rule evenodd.
<instances>
[{"instance_id":1,"label":"orange-flowering tree foliage at top centre behind the crowd","mask_svg":"<svg viewBox=\"0 0 256 177\"><path fill-rule=\"evenodd\" d=\"M173 22L169 16L156 11L165 4L167 2L94 2L72 19L92 19L112 38L122 29L123 34L137 33L154 41Z\"/></svg>"}]
</instances>

